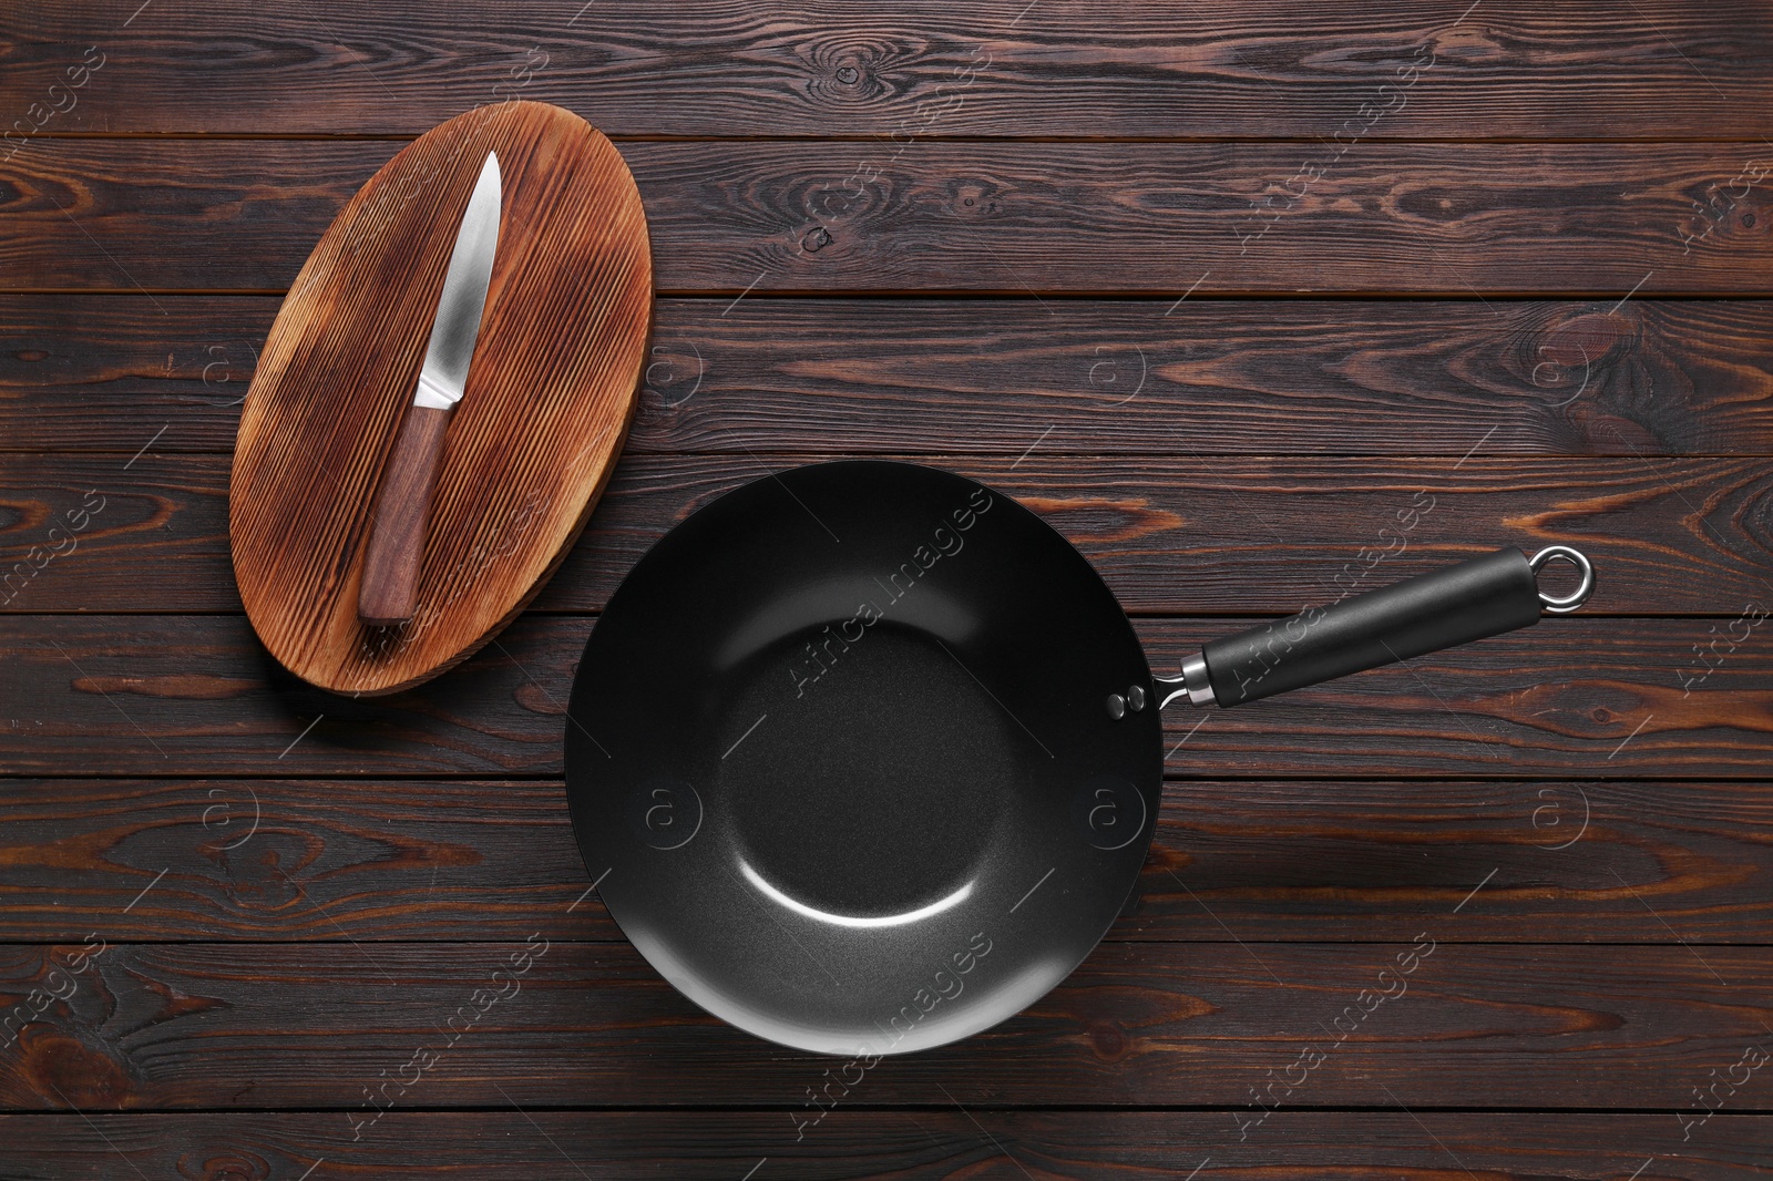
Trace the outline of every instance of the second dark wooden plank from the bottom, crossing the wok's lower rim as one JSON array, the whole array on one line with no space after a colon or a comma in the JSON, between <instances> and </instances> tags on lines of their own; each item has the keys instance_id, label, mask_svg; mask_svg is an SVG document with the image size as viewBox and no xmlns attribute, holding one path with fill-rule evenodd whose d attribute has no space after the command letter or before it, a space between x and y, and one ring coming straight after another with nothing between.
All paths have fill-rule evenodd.
<instances>
[{"instance_id":1,"label":"second dark wooden plank from the bottom, crossing the wok's lower rim","mask_svg":"<svg viewBox=\"0 0 1773 1181\"><path fill-rule=\"evenodd\" d=\"M1314 1046L1326 1060L1291 1096L1275 1092L1289 1108L1674 1112L1707 1071L1723 1078L1768 1041L1757 984L1773 950L1441 942L1463 917L1450 903L1424 915L1415 943L1105 943L1027 1013L886 1059L855 1098L949 1107L945 1087L982 1107L1252 1105L1254 1119L1252 1089ZM527 1105L800 1107L840 1064L720 1023L626 943L115 943L51 979L51 958L76 952L0 949L14 1004L44 984L66 995L5 1048L0 1107L60 1107L55 1082L64 1103L89 1108L362 1103L369 1119L362 1089L399 1082L420 1048L438 1062L406 1076L404 1098L387 1092L401 1107L504 1107L500 1089ZM459 1005L475 1011L475 989L504 997L465 1032L445 1028ZM1372 1007L1362 989L1392 1000ZM1337 1044L1324 1030L1356 1005L1371 1013L1347 1018ZM1732 1110L1766 1108L1738 1091Z\"/></svg>"}]
</instances>

